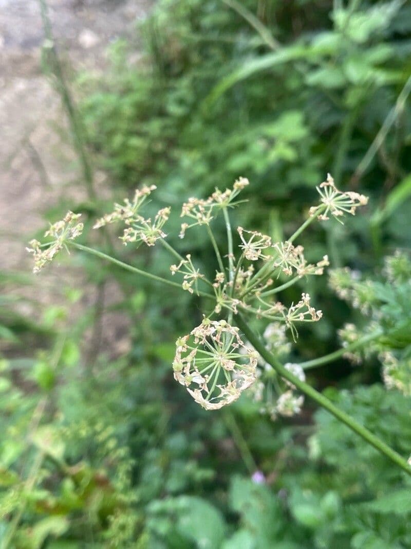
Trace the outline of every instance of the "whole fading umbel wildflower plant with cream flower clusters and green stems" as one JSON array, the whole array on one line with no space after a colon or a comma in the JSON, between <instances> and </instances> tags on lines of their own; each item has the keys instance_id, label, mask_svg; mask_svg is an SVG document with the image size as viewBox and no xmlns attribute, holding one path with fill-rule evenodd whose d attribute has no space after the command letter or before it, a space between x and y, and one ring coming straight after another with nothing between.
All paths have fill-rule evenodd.
<instances>
[{"instance_id":1,"label":"whole fading umbel wildflower plant with cream flower clusters and green stems","mask_svg":"<svg viewBox=\"0 0 411 549\"><path fill-rule=\"evenodd\" d=\"M248 185L249 181L240 177L232 188L225 191L215 189L206 199L190 198L182 205L183 222L179 236L184 238L187 229L193 227L206 230L215 252L214 279L209 280L200 272L191 254L184 257L167 242L164 226L170 208L166 206L159 210L153 220L144 216L144 205L155 190L154 186L138 189L132 201L125 199L123 204L115 204L114 210L98 220L94 227L122 222L125 227L120 238L124 244L145 243L150 247L161 245L177 260L170 267L173 279L158 277L74 242L81 234L82 226L75 224L78 216L71 212L64 221L50 228L48 234L55 237L52 243L45 244L44 248L42 244L32 244L30 251L35 254L36 272L45 262L53 259L62 247L71 246L203 298L203 321L189 334L178 338L173 361L174 378L199 405L206 410L218 410L249 390L254 400L259 402L261 411L275 419L299 413L304 396L309 396L391 461L411 473L403 457L305 381L305 369L350 353L364 341L381 340L385 329L392 328L394 319L390 319L390 315L386 315L385 326L378 333L352 339L351 343L334 352L333 358L326 356L306 363L286 365L280 361L281 355L286 354L290 347L286 334L295 341L301 323L318 322L323 316L307 292L303 292L298 301L290 304L278 299L283 289L298 283L302 278L322 276L329 265L327 255L319 258L316 264L309 264L304 256L304 248L296 244L295 240L317 219L329 221L332 216L342 222L341 217L345 214L355 215L360 206L367 204L367 198L358 193L339 191L333 178L328 175L327 180L317 188L319 203L312 206L308 219L284 242L272 242L270 236L252 229L232 229L229 210L241 203L237 197ZM224 217L226 228L225 253L220 251L213 233L213 221L220 214ZM404 266L403 261L401 265L399 261L391 261L386 268L390 273L397 273L404 272L408 267ZM279 277L287 277L288 280L281 282ZM355 277L348 271L335 272L332 285L341 297L354 299L364 311L372 307L370 303L378 302L375 297L378 288L367 281L357 284ZM263 339L251 327L255 326L255 321L265 326L262 330ZM401 380L401 383L404 382Z\"/></svg>"}]
</instances>

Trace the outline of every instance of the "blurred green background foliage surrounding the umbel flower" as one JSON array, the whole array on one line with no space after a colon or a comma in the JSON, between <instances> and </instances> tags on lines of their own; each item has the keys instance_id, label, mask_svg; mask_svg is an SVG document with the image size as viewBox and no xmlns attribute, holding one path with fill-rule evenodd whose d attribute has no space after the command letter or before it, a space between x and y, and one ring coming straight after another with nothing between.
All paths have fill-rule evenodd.
<instances>
[{"instance_id":1,"label":"blurred green background foliage surrounding the umbel flower","mask_svg":"<svg viewBox=\"0 0 411 549\"><path fill-rule=\"evenodd\" d=\"M301 242L307 259L328 252L332 267L383 279L384 256L411 241L409 3L159 0L142 30L137 63L133 44L118 41L103 77L76 79L79 113L68 114L79 153L87 150L89 199L62 197L61 212L83 212L90 227L113 199L153 183L152 208L172 205L169 232L178 234L183 200L243 175L252 184L235 223L278 240L299 226L330 172L370 203L325 234L311 226ZM50 48L44 66L69 107ZM107 200L91 166L108 175ZM214 272L198 233L175 244ZM135 253L115 239L96 245L168 272L162 250ZM73 324L72 307L87 298L74 284L66 305L47 307L36 323L3 298L2 547L411 546L403 473L310 402L294 421L269 421L245 395L228 410L202 411L170 369L176 337L201 319L196 300L80 254L76 261L98 288L113 280L121 288L111 307L129 320L130 349L115 358L98 345L86 352L85 329L94 323L98 334L105 305ZM300 330L294 362L336 349L344 323L366 323L323 279L308 289L324 319ZM401 320L409 322L407 307ZM402 346L407 354L409 341ZM340 359L310 372L310 382L407 456L409 396L387 391L380 369L375 355L361 366Z\"/></svg>"}]
</instances>

